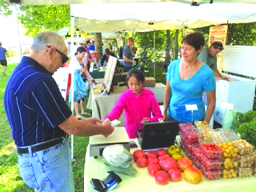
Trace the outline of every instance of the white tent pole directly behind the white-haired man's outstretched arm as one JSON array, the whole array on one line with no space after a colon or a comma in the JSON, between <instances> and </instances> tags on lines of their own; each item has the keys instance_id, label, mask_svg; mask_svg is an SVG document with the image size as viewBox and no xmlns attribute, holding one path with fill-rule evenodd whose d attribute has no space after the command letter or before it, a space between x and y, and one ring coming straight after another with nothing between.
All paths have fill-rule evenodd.
<instances>
[{"instance_id":1,"label":"white tent pole directly behind the white-haired man's outstretched arm","mask_svg":"<svg viewBox=\"0 0 256 192\"><path fill-rule=\"evenodd\" d=\"M71 57L74 55L74 17L71 16L71 46L70 46L70 54ZM71 73L71 111L74 114L74 73ZM74 135L71 135L71 159L74 161Z\"/></svg>"}]
</instances>

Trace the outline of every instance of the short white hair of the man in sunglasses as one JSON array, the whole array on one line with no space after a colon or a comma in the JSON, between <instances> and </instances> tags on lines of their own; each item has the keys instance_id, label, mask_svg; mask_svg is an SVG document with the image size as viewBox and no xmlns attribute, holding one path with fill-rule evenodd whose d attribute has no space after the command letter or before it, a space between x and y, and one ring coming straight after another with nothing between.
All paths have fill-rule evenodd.
<instances>
[{"instance_id":1,"label":"short white hair of the man in sunglasses","mask_svg":"<svg viewBox=\"0 0 256 192\"><path fill-rule=\"evenodd\" d=\"M54 31L44 31L34 36L30 49L40 52L46 49L47 46L54 46L56 49L64 51L66 45L61 35Z\"/></svg>"}]
</instances>

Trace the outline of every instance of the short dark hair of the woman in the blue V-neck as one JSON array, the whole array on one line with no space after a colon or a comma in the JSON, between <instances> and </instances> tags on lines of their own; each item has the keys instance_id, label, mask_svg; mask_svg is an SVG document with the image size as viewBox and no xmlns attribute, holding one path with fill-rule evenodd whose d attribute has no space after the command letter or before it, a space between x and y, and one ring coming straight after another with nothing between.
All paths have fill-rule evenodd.
<instances>
[{"instance_id":1,"label":"short dark hair of the woman in the blue V-neck","mask_svg":"<svg viewBox=\"0 0 256 192\"><path fill-rule=\"evenodd\" d=\"M194 46L195 50L199 50L201 46L205 45L205 38L199 31L195 31L191 34L187 34L183 39L182 43L186 43L189 46Z\"/></svg>"}]
</instances>

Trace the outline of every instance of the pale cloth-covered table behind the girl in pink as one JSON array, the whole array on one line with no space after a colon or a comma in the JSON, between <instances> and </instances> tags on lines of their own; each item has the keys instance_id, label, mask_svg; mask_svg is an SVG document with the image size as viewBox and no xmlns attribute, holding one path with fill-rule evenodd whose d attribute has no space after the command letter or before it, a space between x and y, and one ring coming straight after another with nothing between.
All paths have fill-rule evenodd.
<instances>
[{"instance_id":1,"label":"pale cloth-covered table behind the girl in pink","mask_svg":"<svg viewBox=\"0 0 256 192\"><path fill-rule=\"evenodd\" d=\"M97 79L97 82L101 83L102 80ZM146 87L146 89L154 92L154 96L160 104L163 102L165 88L166 86L164 84L158 82L155 87ZM113 109L121 94L122 93L111 93L110 95L94 94L94 91L91 88L86 108L92 110L92 117L103 119ZM124 113L122 113L119 120L122 122L121 125L123 126L125 121Z\"/></svg>"}]
</instances>

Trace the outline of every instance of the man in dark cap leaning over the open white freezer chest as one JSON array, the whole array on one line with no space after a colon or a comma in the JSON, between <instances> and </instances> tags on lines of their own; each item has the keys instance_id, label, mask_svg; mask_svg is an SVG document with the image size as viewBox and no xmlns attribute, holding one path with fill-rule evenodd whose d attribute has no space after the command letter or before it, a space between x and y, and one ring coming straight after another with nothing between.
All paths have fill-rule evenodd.
<instances>
[{"instance_id":1,"label":"man in dark cap leaning over the open white freezer chest","mask_svg":"<svg viewBox=\"0 0 256 192\"><path fill-rule=\"evenodd\" d=\"M213 42L209 48L205 46L202 49L202 52L198 55L198 59L206 63L214 71L216 78L229 81L229 78L223 77L217 70L217 55L222 50L224 50L222 42Z\"/></svg>"}]
</instances>

